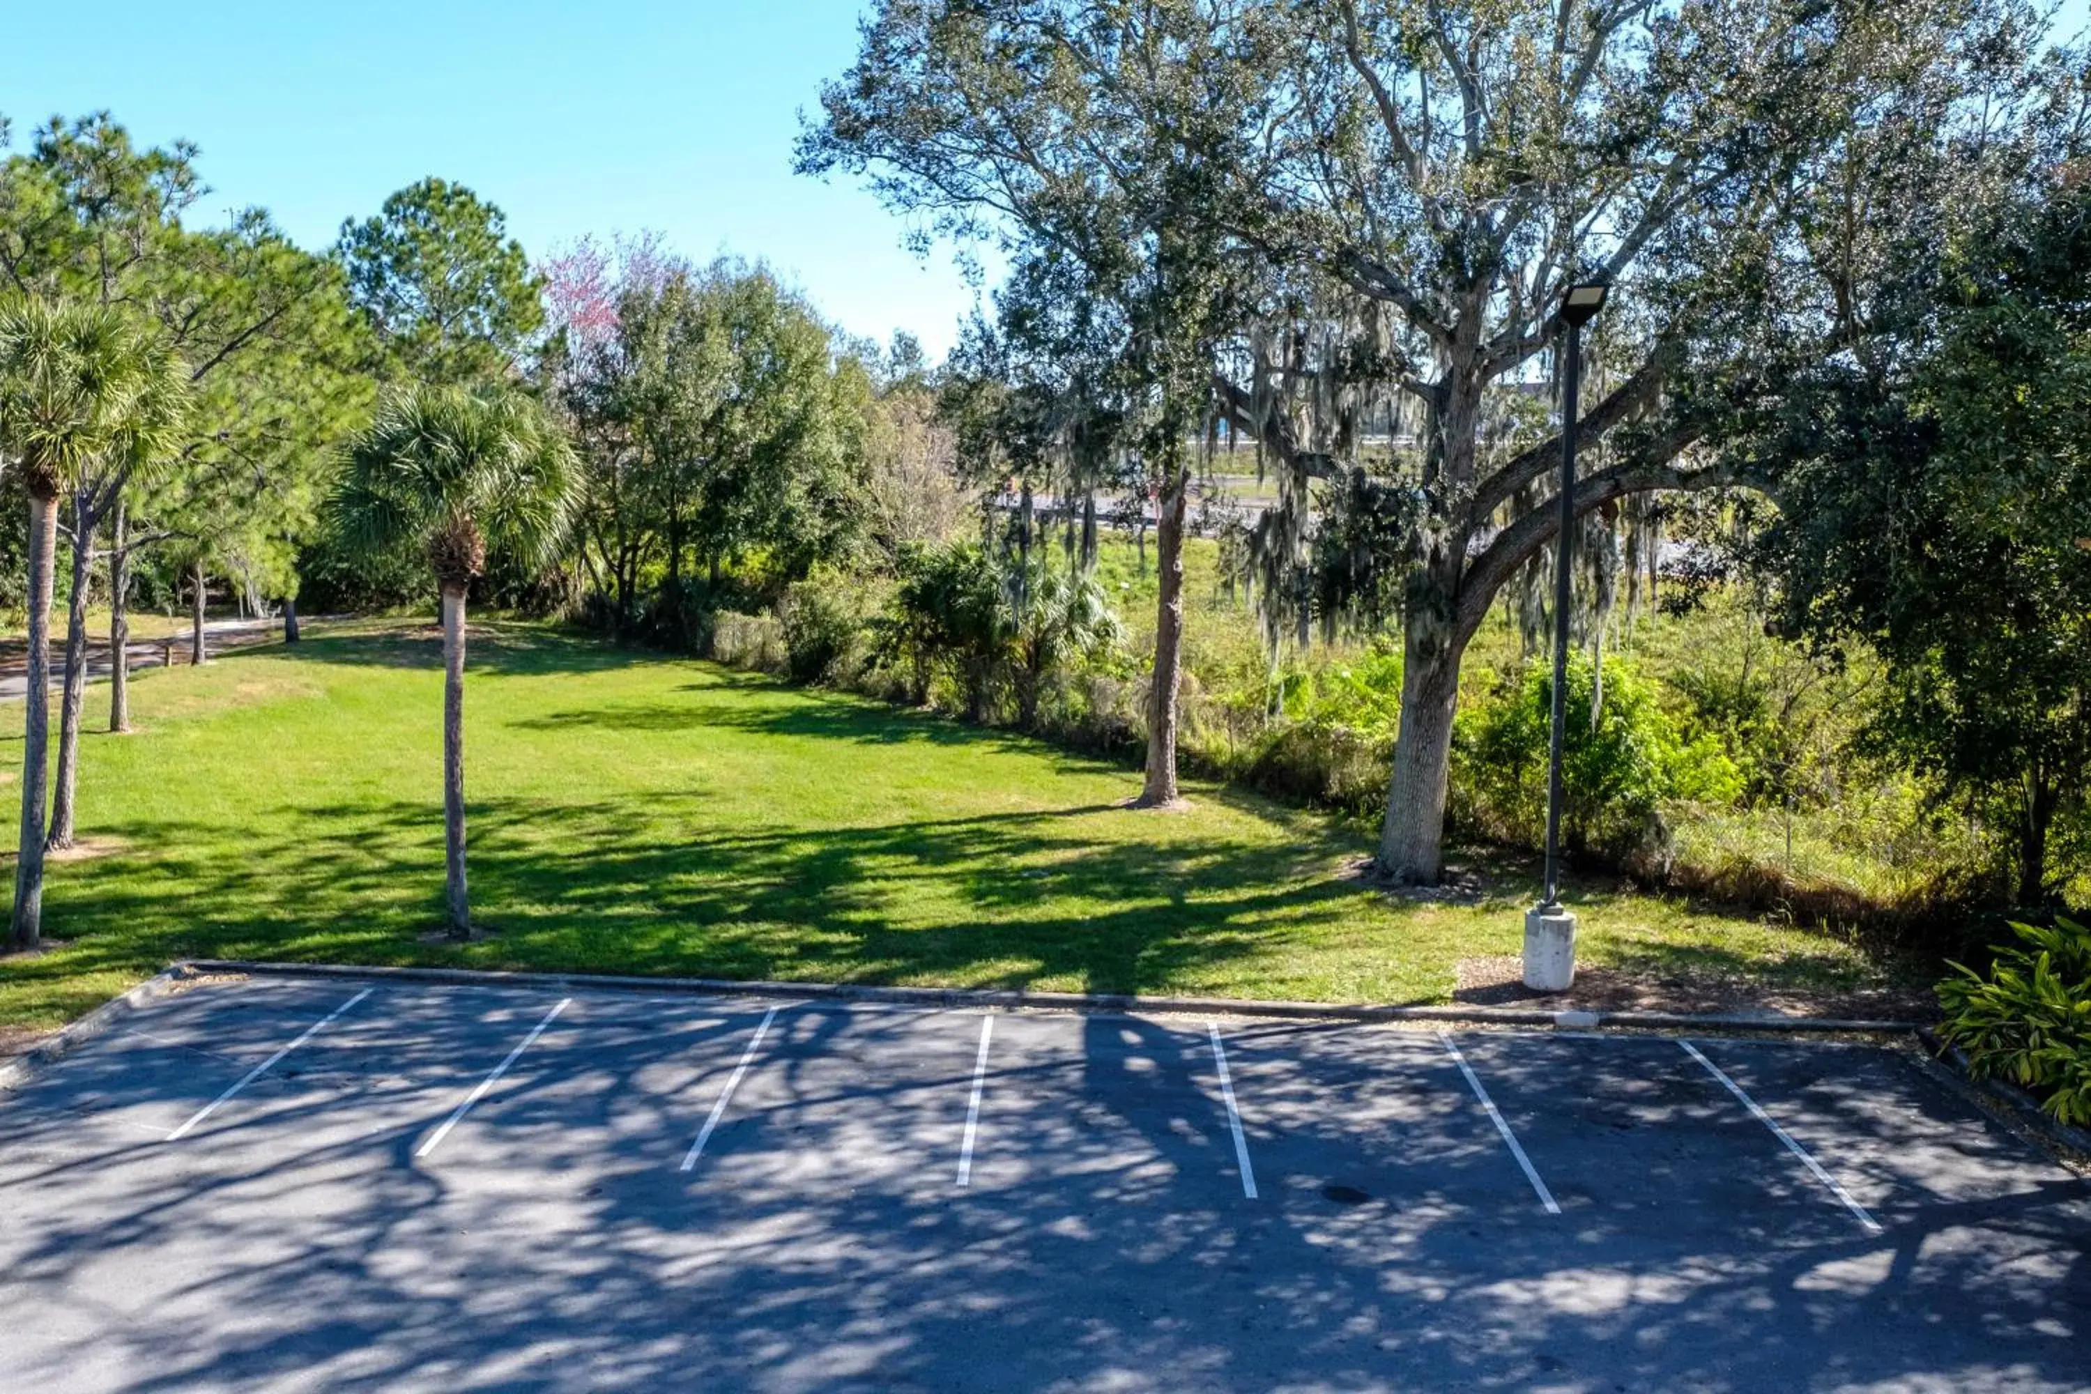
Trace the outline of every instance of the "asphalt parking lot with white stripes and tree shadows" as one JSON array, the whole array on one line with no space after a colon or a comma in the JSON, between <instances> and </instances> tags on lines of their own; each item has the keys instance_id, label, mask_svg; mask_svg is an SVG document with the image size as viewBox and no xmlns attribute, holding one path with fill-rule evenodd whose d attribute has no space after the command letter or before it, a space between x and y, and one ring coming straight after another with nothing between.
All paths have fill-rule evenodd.
<instances>
[{"instance_id":1,"label":"asphalt parking lot with white stripes and tree shadows","mask_svg":"<svg viewBox=\"0 0 2091 1394\"><path fill-rule=\"evenodd\" d=\"M251 978L0 1095L0 1390L2085 1390L1878 1045Z\"/></svg>"}]
</instances>

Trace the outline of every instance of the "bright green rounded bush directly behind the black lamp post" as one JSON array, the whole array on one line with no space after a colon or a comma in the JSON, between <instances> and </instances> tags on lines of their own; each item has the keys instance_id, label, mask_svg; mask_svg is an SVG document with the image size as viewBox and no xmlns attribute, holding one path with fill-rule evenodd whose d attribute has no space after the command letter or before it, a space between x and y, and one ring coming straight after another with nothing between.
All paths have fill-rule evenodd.
<instances>
[{"instance_id":1,"label":"bright green rounded bush directly behind the black lamp post","mask_svg":"<svg viewBox=\"0 0 2091 1394\"><path fill-rule=\"evenodd\" d=\"M1608 658L1604 700L1593 702L1593 679L1591 660L1575 654L1562 729L1562 838L1570 851L1633 857L1660 836L1664 805L1738 798L1736 765L1710 738L1687 744L1656 702L1654 683ZM1535 663L1520 679L1460 713L1453 788L1464 800L1462 813L1495 836L1516 842L1543 836L1552 702L1552 665Z\"/></svg>"}]
</instances>

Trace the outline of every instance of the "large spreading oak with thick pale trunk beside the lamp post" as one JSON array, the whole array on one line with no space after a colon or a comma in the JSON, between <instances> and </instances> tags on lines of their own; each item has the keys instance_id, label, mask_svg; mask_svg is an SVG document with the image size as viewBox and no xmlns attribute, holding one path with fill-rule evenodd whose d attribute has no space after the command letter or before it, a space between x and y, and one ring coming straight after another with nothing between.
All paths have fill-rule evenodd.
<instances>
[{"instance_id":1,"label":"large spreading oak with thick pale trunk beside the lamp post","mask_svg":"<svg viewBox=\"0 0 2091 1394\"><path fill-rule=\"evenodd\" d=\"M1558 439L1491 449L1491 397L1547 380L1562 293L1614 286L1579 422L1583 514L1750 483L1694 447L1759 391L1771 274L1821 182L1884 113L1934 144L2007 98L2037 33L2009 0L1338 0L1265 6L1294 102L1282 173L1255 190L1280 253L1378 311L1365 372L1414 412L1382 470L1405 506L1403 706L1380 869L1441 874L1460 663L1491 602L1558 531ZM1995 104L2007 111L2009 100ZM1974 115L1968 115L1974 113ZM1819 334L1807 336L1819 343ZM1355 353L1353 359L1355 364ZM1345 372L1345 366L1324 368ZM1240 420L1299 472L1296 418L1238 389Z\"/></svg>"}]
</instances>

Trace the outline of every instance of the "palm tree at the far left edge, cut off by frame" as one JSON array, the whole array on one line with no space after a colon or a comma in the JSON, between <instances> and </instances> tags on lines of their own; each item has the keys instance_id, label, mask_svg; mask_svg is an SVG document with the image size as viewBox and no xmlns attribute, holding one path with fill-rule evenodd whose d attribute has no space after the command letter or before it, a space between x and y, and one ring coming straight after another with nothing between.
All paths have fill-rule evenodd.
<instances>
[{"instance_id":1,"label":"palm tree at the far left edge, cut off by frame","mask_svg":"<svg viewBox=\"0 0 2091 1394\"><path fill-rule=\"evenodd\" d=\"M155 349L119 311L44 299L0 301L0 449L29 495L29 688L21 771L15 943L44 930L44 794L50 744L50 581L59 497L140 426ZM86 545L86 543L82 543Z\"/></svg>"}]
</instances>

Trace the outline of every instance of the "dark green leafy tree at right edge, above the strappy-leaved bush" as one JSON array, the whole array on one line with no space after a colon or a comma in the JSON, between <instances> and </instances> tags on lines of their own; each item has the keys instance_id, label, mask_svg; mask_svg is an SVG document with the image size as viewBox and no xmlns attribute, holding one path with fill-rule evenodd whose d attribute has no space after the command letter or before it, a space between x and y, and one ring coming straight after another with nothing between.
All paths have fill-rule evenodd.
<instances>
[{"instance_id":1,"label":"dark green leafy tree at right edge, above the strappy-leaved bush","mask_svg":"<svg viewBox=\"0 0 2091 1394\"><path fill-rule=\"evenodd\" d=\"M2091 190L2020 190L1911 253L1922 313L1794 393L1759 564L1788 629L1890 665L1869 738L2009 830L2020 903L2091 788ZM1892 349L1892 351L1890 351Z\"/></svg>"}]
</instances>

